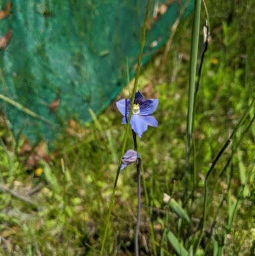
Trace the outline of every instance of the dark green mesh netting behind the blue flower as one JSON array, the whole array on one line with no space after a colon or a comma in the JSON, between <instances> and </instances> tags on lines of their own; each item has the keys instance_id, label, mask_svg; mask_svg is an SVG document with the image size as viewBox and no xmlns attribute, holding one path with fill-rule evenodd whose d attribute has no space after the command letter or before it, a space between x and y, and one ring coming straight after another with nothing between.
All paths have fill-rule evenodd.
<instances>
[{"instance_id":1,"label":"dark green mesh netting behind the blue flower","mask_svg":"<svg viewBox=\"0 0 255 256\"><path fill-rule=\"evenodd\" d=\"M159 5L164 2L170 3ZM143 64L168 39L184 3L173 1L152 22ZM13 0L12 5L0 20L1 36L12 31L0 52L0 102L15 135L52 139L69 117L91 121L88 109L99 114L126 85L127 59L130 77L135 74L146 0ZM184 18L191 10L193 1ZM52 112L56 98L59 107Z\"/></svg>"}]
</instances>

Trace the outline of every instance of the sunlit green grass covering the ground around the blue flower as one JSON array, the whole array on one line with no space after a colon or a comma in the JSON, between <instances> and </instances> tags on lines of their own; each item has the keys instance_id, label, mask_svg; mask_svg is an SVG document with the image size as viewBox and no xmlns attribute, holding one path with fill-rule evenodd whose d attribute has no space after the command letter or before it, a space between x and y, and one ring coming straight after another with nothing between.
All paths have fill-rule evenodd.
<instances>
[{"instance_id":1,"label":"sunlit green grass covering the ground around the blue flower","mask_svg":"<svg viewBox=\"0 0 255 256\"><path fill-rule=\"evenodd\" d=\"M254 4L247 1L250 8L245 8L233 1L214 2L207 3L211 34L196 97L187 200L191 17L178 27L166 63L161 63L161 49L140 76L138 88L145 98L159 98L154 114L159 127L149 127L140 141L148 195L147 203L143 187L140 255L193 255L196 248L196 255L253 255L255 128L249 124L254 108L208 177L201 233L203 181L254 100ZM204 20L202 8L201 25ZM130 96L129 87L116 101ZM93 123L73 123L55 140L50 161L38 164L44 170L40 178L26 172L29 155L21 154L22 139L15 147L10 132L1 126L0 181L16 194L0 187L5 191L0 193L0 236L10 245L8 250L2 243L0 255L99 255L126 128L121 119L112 103ZM133 148L131 133L127 148ZM29 196L35 183L43 187ZM163 200L164 193L174 200ZM105 255L133 255L136 206L136 168L129 165L117 183Z\"/></svg>"}]
</instances>

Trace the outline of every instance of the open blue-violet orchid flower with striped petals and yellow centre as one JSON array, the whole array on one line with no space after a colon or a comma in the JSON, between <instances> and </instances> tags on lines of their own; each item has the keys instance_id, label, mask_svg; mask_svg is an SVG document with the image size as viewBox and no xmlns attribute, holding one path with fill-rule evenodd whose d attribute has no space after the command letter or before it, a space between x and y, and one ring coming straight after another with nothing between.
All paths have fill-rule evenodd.
<instances>
[{"instance_id":1,"label":"open blue-violet orchid flower with striped petals and yellow centre","mask_svg":"<svg viewBox=\"0 0 255 256\"><path fill-rule=\"evenodd\" d=\"M131 98L129 100L119 100L119 102L116 102L116 105L119 112L124 116L122 124L128 123ZM138 137L142 137L142 134L147 131L148 125L153 127L158 126L157 120L151 115L157 109L157 105L159 105L158 99L143 100L143 94L140 91L136 91L131 117L131 128L137 133Z\"/></svg>"}]
</instances>

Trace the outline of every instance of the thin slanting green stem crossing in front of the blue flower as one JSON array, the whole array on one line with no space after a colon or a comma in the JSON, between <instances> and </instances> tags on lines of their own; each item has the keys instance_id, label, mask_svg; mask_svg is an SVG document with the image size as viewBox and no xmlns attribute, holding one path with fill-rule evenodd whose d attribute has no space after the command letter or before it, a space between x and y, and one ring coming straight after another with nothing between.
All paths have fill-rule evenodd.
<instances>
[{"instance_id":1,"label":"thin slanting green stem crossing in front of the blue flower","mask_svg":"<svg viewBox=\"0 0 255 256\"><path fill-rule=\"evenodd\" d=\"M140 68L141 68L141 64L142 64L143 47L145 45L145 35L146 35L147 24L148 24L148 20L149 20L149 12L150 12L150 5L151 5L151 3L152 3L152 0L149 0L148 4L147 4L145 19L144 19L144 22L143 22L143 30L142 30L142 38L141 38L141 45L140 45L140 53L139 53L139 56L138 56L138 63L137 63L137 69L136 69L136 75L135 75L135 84L134 84L134 89L133 89L133 94L132 94L131 106L130 106L130 110L129 110L128 123L126 125L126 131L125 131L125 135L124 135L124 139L123 139L123 143L122 143L122 149L121 149L121 154L120 154L120 158L119 158L119 167L117 169L117 174L115 176L115 181L114 181L114 185L113 185L112 198L111 198L111 202L110 202L110 209L109 209L109 212L108 212L108 216L106 218L105 234L103 236L100 256L103 255L103 250L105 248L105 239L106 239L106 235L107 235L107 231L108 231L108 226L109 226L109 222L110 222L110 216L111 216L111 213L112 213L112 207L113 207L114 196L115 196L115 191L116 191L116 187L117 187L117 181L119 179L120 164L121 164L122 156L124 155L124 152L125 152L125 149L126 149L127 140L128 140L128 130L129 130L129 126L130 126L133 105L134 105L134 102L135 102L135 93L136 93L136 89L137 89L138 78L139 78L139 75L140 75Z\"/></svg>"}]
</instances>

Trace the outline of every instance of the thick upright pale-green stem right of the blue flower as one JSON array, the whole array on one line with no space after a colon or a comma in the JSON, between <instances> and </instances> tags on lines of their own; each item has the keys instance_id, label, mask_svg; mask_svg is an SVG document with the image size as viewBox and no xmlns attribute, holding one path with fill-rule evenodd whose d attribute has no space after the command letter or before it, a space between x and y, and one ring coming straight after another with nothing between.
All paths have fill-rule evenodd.
<instances>
[{"instance_id":1,"label":"thick upright pale-green stem right of the blue flower","mask_svg":"<svg viewBox=\"0 0 255 256\"><path fill-rule=\"evenodd\" d=\"M189 66L189 104L187 110L187 138L186 138L186 165L185 165L185 196L189 188L189 154L191 152L191 135L193 128L193 111L194 111L194 88L196 82L196 63L198 58L198 39L200 33L200 12L201 1L195 0L193 29L191 38L191 63Z\"/></svg>"}]
</instances>

